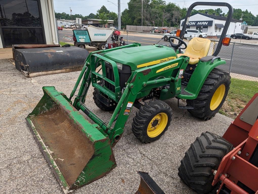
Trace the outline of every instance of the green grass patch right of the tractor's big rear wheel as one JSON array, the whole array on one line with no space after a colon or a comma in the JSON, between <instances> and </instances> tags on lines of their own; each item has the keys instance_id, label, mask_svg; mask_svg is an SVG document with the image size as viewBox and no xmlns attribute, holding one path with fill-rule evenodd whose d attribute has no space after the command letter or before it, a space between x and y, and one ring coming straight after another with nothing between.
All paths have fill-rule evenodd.
<instances>
[{"instance_id":1,"label":"green grass patch right of the tractor's big rear wheel","mask_svg":"<svg viewBox=\"0 0 258 194\"><path fill-rule=\"evenodd\" d=\"M228 98L239 99L242 102L247 103L256 92L258 92L257 81L247 81L247 80L231 78Z\"/></svg>"}]
</instances>

